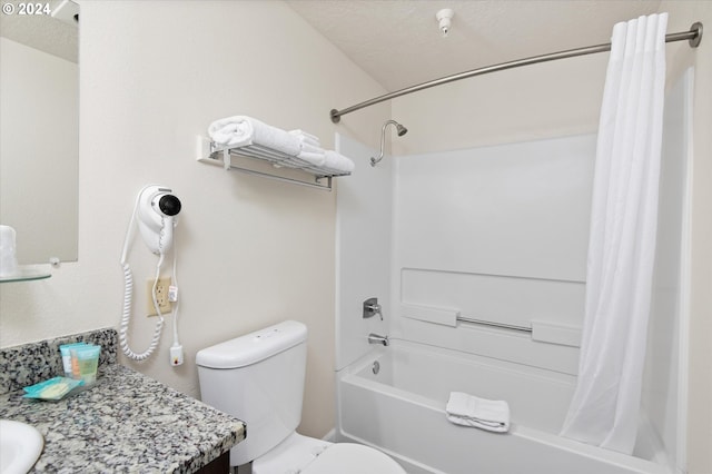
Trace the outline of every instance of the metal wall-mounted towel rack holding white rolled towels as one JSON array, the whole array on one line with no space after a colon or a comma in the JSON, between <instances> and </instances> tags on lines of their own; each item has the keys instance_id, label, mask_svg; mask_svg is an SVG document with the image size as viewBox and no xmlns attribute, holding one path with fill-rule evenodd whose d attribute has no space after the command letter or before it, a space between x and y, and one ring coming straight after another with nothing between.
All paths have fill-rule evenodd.
<instances>
[{"instance_id":1,"label":"metal wall-mounted towel rack holding white rolled towels","mask_svg":"<svg viewBox=\"0 0 712 474\"><path fill-rule=\"evenodd\" d=\"M224 147L209 138L198 136L198 157L200 162L222 166L226 170L269 178L317 189L332 190L332 178L348 176L350 172L329 172L297 157L260 145L247 144L238 147ZM233 157L249 158L271 164L273 170L263 171L240 166ZM296 170L298 177L283 176L280 170ZM326 180L326 182L323 182Z\"/></svg>"}]
</instances>

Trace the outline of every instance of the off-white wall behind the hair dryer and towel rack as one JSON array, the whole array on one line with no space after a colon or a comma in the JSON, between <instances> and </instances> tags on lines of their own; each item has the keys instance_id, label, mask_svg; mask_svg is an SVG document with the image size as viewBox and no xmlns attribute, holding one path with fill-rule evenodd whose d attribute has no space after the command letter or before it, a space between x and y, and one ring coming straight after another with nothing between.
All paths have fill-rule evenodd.
<instances>
[{"instance_id":1,"label":"off-white wall behind the hair dryer and towel rack","mask_svg":"<svg viewBox=\"0 0 712 474\"><path fill-rule=\"evenodd\" d=\"M387 106L340 126L328 111L384 90L281 2L81 8L79 261L49 280L0 287L0 345L118 326L134 199L159 182L184 204L176 238L186 364L168 364L169 328L156 357L128 364L198 395L199 348L301 320L309 329L301 431L324 435L334 422L335 194L199 164L195 137L216 118L245 113L308 130L329 148L337 129L377 144L373 124L386 119ZM130 340L142 350L154 327L142 315L144 282L157 260L140 239L129 258L137 280Z\"/></svg>"}]
</instances>

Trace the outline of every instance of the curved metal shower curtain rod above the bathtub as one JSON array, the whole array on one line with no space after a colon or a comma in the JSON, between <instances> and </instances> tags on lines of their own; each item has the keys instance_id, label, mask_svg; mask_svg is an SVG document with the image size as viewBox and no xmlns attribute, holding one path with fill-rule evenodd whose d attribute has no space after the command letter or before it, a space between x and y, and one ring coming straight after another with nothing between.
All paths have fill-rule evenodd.
<instances>
[{"instance_id":1,"label":"curved metal shower curtain rod above the bathtub","mask_svg":"<svg viewBox=\"0 0 712 474\"><path fill-rule=\"evenodd\" d=\"M692 48L696 48L698 46L700 46L700 41L702 41L702 23L698 21L698 22L694 22L692 27L690 27L690 31L683 31L680 33L670 33L665 36L665 42L683 41L683 40L689 40L690 47ZM496 72L496 71L503 71L505 69L518 68L520 66L536 65L538 62L547 62L547 61L554 61L556 59L574 58L576 56L593 55L596 52L605 52L610 50L611 50L611 43L609 42L605 45L596 45L596 46L589 46L585 48L568 49L565 51L551 52L548 55L541 55L541 56L532 56L530 58L517 59L515 61L486 66L484 68L473 69L469 71L459 72L453 76L446 76L444 78L435 79L428 82L423 82L417 86L406 87L405 89L400 89L400 90L396 90L395 92L389 92L383 96L378 96L374 99L366 100L365 102L356 103L355 106L347 107L342 110L332 109L329 115L332 117L332 121L334 124L338 124L342 120L342 116L345 116L346 113L350 113L356 110L363 109L365 107L370 107L386 100L395 99L396 97L405 96L406 93L412 93L412 92L417 92L418 90L428 89L431 87L454 82L456 80L466 79L474 76L482 76L488 72Z\"/></svg>"}]
</instances>

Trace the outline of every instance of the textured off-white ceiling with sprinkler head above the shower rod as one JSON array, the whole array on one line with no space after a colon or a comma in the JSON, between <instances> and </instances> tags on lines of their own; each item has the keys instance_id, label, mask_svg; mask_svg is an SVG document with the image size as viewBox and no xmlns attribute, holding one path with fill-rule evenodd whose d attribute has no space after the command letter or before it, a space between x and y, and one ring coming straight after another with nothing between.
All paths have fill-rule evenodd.
<instances>
[{"instance_id":1,"label":"textured off-white ceiling with sprinkler head above the shower rod","mask_svg":"<svg viewBox=\"0 0 712 474\"><path fill-rule=\"evenodd\" d=\"M660 0L287 0L388 91L530 56L610 41ZM443 38L435 13L454 10Z\"/></svg>"}]
</instances>

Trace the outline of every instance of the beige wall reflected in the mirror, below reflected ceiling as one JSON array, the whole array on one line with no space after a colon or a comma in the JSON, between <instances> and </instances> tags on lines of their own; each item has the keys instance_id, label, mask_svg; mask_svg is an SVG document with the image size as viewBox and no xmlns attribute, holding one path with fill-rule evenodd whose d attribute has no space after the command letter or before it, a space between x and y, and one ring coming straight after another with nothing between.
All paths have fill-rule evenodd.
<instances>
[{"instance_id":1,"label":"beige wall reflected in the mirror, below reflected ceiling","mask_svg":"<svg viewBox=\"0 0 712 474\"><path fill-rule=\"evenodd\" d=\"M0 221L22 264L77 259L79 68L0 38Z\"/></svg>"}]
</instances>

